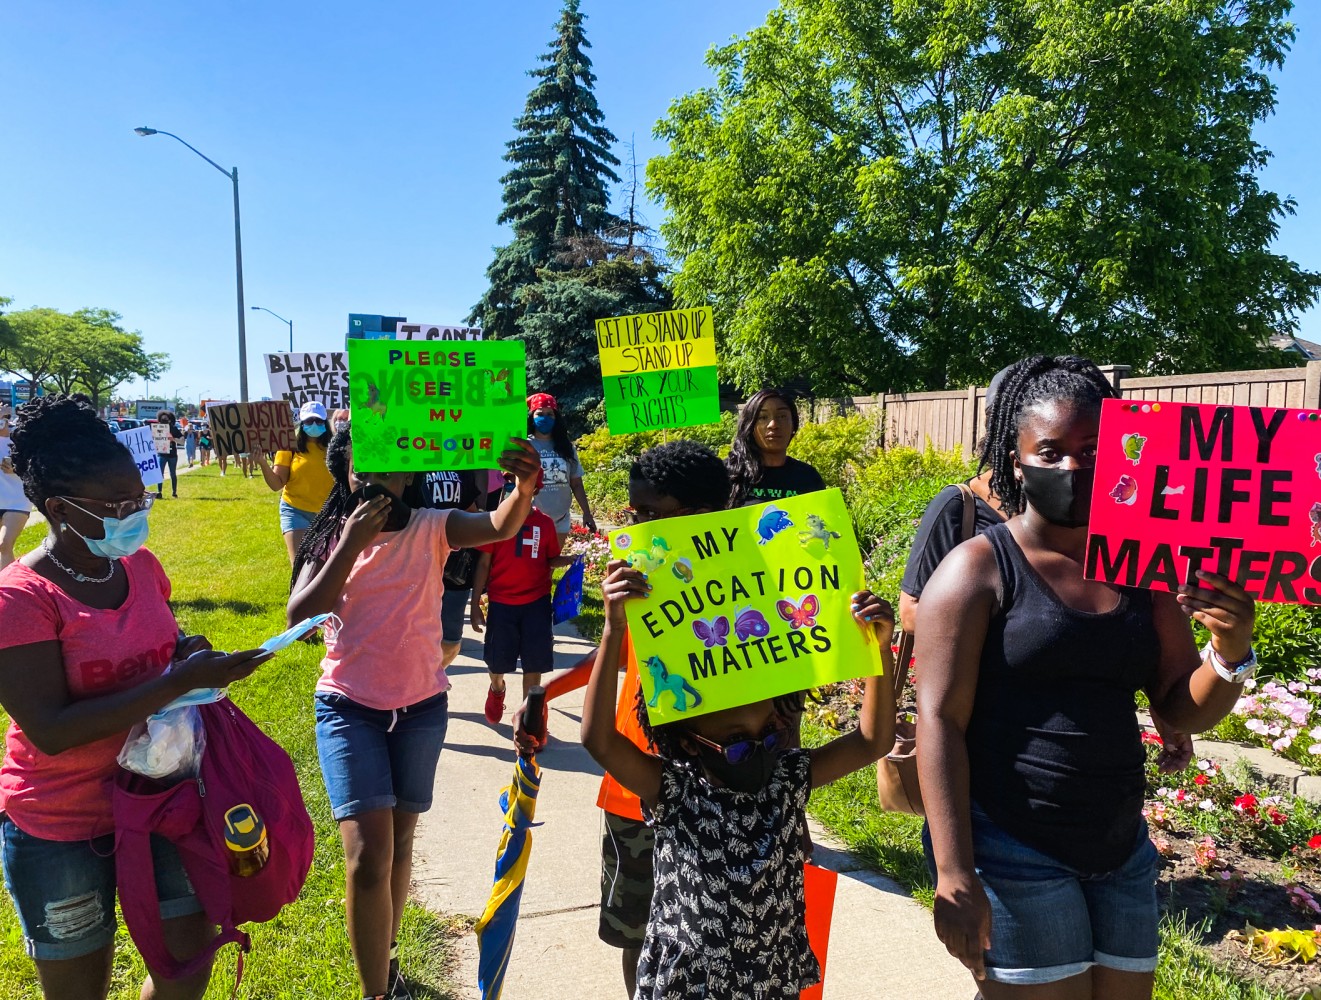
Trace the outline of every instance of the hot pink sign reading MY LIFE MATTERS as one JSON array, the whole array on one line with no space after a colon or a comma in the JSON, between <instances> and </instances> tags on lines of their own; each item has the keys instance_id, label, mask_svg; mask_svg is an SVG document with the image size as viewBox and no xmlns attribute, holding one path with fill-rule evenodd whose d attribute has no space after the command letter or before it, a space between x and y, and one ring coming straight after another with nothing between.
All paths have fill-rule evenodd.
<instances>
[{"instance_id":1,"label":"hot pink sign reading MY LIFE MATTERS","mask_svg":"<svg viewBox=\"0 0 1321 1000\"><path fill-rule=\"evenodd\" d=\"M1087 579L1173 590L1198 569L1321 604L1321 413L1103 403Z\"/></svg>"}]
</instances>

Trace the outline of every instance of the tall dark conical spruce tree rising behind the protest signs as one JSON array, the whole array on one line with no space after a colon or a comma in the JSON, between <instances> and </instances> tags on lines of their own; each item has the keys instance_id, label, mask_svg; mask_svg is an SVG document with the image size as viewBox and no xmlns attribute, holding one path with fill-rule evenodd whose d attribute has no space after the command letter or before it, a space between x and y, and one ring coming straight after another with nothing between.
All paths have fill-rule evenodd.
<instances>
[{"instance_id":1,"label":"tall dark conical spruce tree rising behind the protest signs","mask_svg":"<svg viewBox=\"0 0 1321 1000\"><path fill-rule=\"evenodd\" d=\"M469 317L490 337L519 336L522 292L539 280L539 269L560 268L559 243L617 222L609 213L608 182L618 182L612 168L620 161L596 103L584 18L579 0L565 0L555 40L539 57L543 65L528 71L536 83L515 122L518 135L506 147L511 166L501 178L499 222L513 227L514 238L497 248L486 269L490 287Z\"/></svg>"}]
</instances>

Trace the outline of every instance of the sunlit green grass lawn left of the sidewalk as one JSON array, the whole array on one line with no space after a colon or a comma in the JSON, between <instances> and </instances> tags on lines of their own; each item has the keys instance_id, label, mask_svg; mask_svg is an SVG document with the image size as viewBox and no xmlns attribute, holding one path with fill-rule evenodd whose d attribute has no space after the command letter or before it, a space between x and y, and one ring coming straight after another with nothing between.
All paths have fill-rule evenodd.
<instances>
[{"instance_id":1,"label":"sunlit green grass lawn left of the sidewalk","mask_svg":"<svg viewBox=\"0 0 1321 1000\"><path fill-rule=\"evenodd\" d=\"M173 581L180 625L206 635L217 649L251 649L284 630L289 567L280 538L276 497L260 480L222 478L211 466L180 481L181 499L152 510L149 548ZM24 532L20 550L34 547L45 526ZM359 996L349 955L343 914L343 853L317 766L312 690L321 646L296 643L281 651L231 695L288 750L299 769L308 810L316 822L317 851L297 902L271 923L252 927L240 996L262 1000ZM5 720L8 721L8 720ZM460 925L410 906L400 948L404 968L420 984L417 996L450 997L449 939ZM38 1000L32 963L8 896L0 902L0 996ZM120 930L111 996L137 996L144 970ZM229 997L235 948L221 952L207 997Z\"/></svg>"}]
</instances>

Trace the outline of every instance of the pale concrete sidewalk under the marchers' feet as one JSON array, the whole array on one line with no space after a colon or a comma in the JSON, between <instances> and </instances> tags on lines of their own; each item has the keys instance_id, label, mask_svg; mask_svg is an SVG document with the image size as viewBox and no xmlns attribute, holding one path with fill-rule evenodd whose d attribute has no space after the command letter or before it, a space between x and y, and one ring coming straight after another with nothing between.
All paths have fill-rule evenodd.
<instances>
[{"instance_id":1,"label":"pale concrete sidewalk under the marchers' feet","mask_svg":"<svg viewBox=\"0 0 1321 1000\"><path fill-rule=\"evenodd\" d=\"M567 629L556 666L577 662L592 645ZM419 826L413 890L429 909L477 917L491 888L499 843L499 793L513 773L509 716L518 707L511 678L509 713L498 728L482 716L486 668L472 631L449 670L449 734L436 775L436 804ZM624 1000L620 952L596 934L601 872L601 769L579 742L583 691L551 703L551 745L538 757L542 791L532 856L506 1000ZM885 876L838 849L814 827L814 860L840 873L831 929L824 1000L947 1000L972 996L972 979L948 956L931 915ZM454 980L462 1000L478 1000L477 938L460 942Z\"/></svg>"}]
</instances>

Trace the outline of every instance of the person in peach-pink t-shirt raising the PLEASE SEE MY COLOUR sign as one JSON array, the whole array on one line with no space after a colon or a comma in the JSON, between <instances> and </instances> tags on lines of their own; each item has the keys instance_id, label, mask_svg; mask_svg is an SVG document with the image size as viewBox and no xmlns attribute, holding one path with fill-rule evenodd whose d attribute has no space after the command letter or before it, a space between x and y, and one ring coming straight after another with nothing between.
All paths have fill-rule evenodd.
<instances>
[{"instance_id":1,"label":"person in peach-pink t-shirt raising the PLEASE SEE MY COLOUR sign","mask_svg":"<svg viewBox=\"0 0 1321 1000\"><path fill-rule=\"evenodd\" d=\"M347 867L349 945L365 997L408 996L395 941L412 875L412 839L431 808L449 720L441 597L450 548L513 538L542 470L526 441L499 464L517 487L490 513L415 510L412 473L353 464L334 436L334 489L293 564L289 621L333 612L317 683L317 754Z\"/></svg>"}]
</instances>

